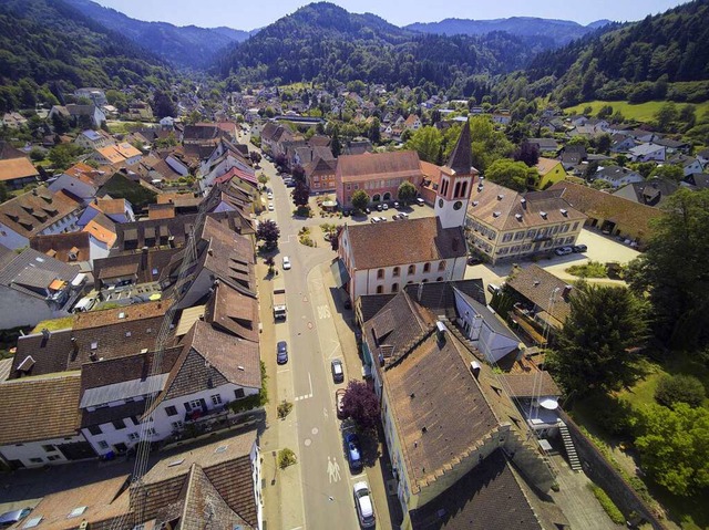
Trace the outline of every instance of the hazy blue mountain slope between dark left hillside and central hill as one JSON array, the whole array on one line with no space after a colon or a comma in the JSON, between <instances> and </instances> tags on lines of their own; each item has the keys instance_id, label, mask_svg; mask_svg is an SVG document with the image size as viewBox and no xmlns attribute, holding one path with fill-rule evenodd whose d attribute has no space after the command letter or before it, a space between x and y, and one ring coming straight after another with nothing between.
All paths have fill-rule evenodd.
<instances>
[{"instance_id":1,"label":"hazy blue mountain slope between dark left hillside and central hill","mask_svg":"<svg viewBox=\"0 0 709 530\"><path fill-rule=\"evenodd\" d=\"M64 0L86 17L116 31L175 66L205 67L228 44L245 41L251 32L230 28L177 27L167 22L132 19L91 0Z\"/></svg>"}]
</instances>

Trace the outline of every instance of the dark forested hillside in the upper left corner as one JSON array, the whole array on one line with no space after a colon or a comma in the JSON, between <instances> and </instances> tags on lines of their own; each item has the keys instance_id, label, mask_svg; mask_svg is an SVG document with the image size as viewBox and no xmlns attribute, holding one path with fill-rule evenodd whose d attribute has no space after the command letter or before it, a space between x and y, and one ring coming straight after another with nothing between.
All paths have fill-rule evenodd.
<instances>
[{"instance_id":1,"label":"dark forested hillside in the upper left corner","mask_svg":"<svg viewBox=\"0 0 709 530\"><path fill-rule=\"evenodd\" d=\"M55 103L79 86L165 86L169 69L61 0L0 2L0 110Z\"/></svg>"}]
</instances>

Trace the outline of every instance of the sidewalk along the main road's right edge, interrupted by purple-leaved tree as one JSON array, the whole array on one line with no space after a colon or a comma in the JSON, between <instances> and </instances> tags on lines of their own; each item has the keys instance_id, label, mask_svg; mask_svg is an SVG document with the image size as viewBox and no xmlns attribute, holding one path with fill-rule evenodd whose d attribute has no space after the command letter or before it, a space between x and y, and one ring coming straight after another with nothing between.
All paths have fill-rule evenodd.
<instances>
[{"instance_id":1,"label":"sidewalk along the main road's right edge, interrupted by purple-leaved tree","mask_svg":"<svg viewBox=\"0 0 709 530\"><path fill-rule=\"evenodd\" d=\"M357 341L354 339L354 313L346 310L339 297L332 295L336 292L335 279L330 272L329 262L317 268L317 273L322 279L322 285L328 293L328 303L330 313L337 331L340 349L342 352L342 361L346 365L346 372L349 378L363 380L362 377L362 360L359 355ZM367 481L374 500L374 510L377 512L378 528L399 528L402 520L401 507L393 495L388 495L387 482L393 480L391 474L391 465L389 463L389 454L384 445L384 437L381 429L379 434L378 458L373 466L364 468L367 471ZM393 484L393 482L390 482Z\"/></svg>"}]
</instances>

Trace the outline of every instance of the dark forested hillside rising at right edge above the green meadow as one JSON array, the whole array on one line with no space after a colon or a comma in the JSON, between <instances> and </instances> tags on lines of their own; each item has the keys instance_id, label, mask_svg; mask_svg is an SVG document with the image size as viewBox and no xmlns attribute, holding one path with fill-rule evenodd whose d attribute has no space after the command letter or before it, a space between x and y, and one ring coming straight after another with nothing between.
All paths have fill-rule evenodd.
<instances>
[{"instance_id":1,"label":"dark forested hillside rising at right edge above the green meadow","mask_svg":"<svg viewBox=\"0 0 709 530\"><path fill-rule=\"evenodd\" d=\"M531 82L555 80L563 106L590 100L705 101L709 83L709 0L582 39L541 53L527 69Z\"/></svg>"}]
</instances>

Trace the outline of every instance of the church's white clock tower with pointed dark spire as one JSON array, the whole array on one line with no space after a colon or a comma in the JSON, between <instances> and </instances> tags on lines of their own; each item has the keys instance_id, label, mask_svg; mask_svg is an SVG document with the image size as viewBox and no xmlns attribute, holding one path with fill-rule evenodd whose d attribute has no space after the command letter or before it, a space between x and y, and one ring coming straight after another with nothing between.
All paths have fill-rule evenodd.
<instances>
[{"instance_id":1,"label":"church's white clock tower with pointed dark spire","mask_svg":"<svg viewBox=\"0 0 709 530\"><path fill-rule=\"evenodd\" d=\"M465 122L450 160L441 168L434 212L443 228L462 227L465 224L476 174L477 170L473 167L470 123Z\"/></svg>"}]
</instances>

